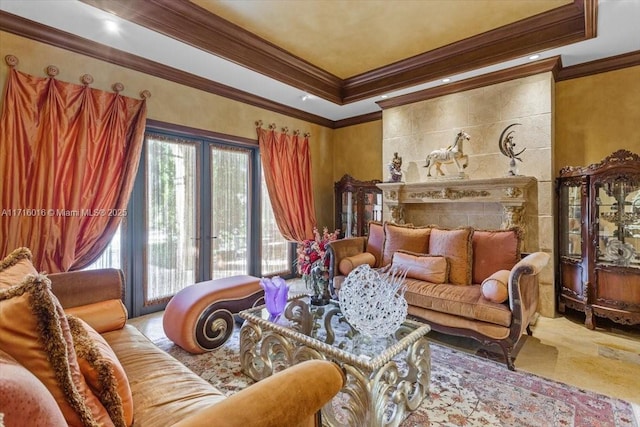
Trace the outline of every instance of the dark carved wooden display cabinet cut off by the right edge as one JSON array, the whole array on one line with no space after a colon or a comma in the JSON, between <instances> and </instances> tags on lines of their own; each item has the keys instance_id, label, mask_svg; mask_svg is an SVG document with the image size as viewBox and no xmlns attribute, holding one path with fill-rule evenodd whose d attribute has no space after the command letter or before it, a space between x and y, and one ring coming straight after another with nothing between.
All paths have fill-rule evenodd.
<instances>
[{"instance_id":1,"label":"dark carved wooden display cabinet cut off by the right edge","mask_svg":"<svg viewBox=\"0 0 640 427\"><path fill-rule=\"evenodd\" d=\"M558 308L640 324L640 156L565 167L558 193Z\"/></svg>"}]
</instances>

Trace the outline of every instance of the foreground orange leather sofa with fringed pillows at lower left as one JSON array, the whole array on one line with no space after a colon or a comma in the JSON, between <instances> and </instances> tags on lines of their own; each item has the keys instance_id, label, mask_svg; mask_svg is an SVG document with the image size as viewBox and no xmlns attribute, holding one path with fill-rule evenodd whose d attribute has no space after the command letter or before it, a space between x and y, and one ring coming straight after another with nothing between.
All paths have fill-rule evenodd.
<instances>
[{"instance_id":1,"label":"foreground orange leather sofa with fringed pillows at lower left","mask_svg":"<svg viewBox=\"0 0 640 427\"><path fill-rule=\"evenodd\" d=\"M225 397L127 324L119 270L46 277L30 257L0 262L0 425L312 426L343 385L311 361Z\"/></svg>"}]
</instances>

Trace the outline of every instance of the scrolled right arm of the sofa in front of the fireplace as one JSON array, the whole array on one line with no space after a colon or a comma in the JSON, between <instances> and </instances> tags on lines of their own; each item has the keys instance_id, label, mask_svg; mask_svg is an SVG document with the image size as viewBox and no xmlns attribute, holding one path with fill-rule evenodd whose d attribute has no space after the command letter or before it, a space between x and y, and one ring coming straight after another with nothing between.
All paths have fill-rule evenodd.
<instances>
[{"instance_id":1,"label":"scrolled right arm of the sofa in front of the fireplace","mask_svg":"<svg viewBox=\"0 0 640 427\"><path fill-rule=\"evenodd\" d=\"M534 252L520 260L509 275L509 307L513 319L511 335L517 339L529 326L538 309L538 274L551 257L545 252Z\"/></svg>"}]
</instances>

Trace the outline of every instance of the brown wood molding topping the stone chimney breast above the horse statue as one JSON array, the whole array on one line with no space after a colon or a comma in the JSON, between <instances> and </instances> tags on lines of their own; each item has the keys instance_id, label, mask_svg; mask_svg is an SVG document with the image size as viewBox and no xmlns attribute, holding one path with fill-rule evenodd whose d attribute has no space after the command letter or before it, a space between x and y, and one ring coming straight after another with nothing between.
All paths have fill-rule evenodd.
<instances>
[{"instance_id":1,"label":"brown wood molding topping the stone chimney breast above the horse statue","mask_svg":"<svg viewBox=\"0 0 640 427\"><path fill-rule=\"evenodd\" d=\"M437 98L439 96L450 95L452 93L464 92L471 89L477 89L496 83L502 83L509 80L519 79L545 72L551 72L556 79L558 70L560 69L560 57L544 59L532 62L530 64L519 65L517 67L496 71L490 74L484 74L470 79L461 80L459 82L437 86L431 89L421 90L406 95L396 96L394 98L378 101L377 104L383 109L399 107L414 102L425 101L427 99Z\"/></svg>"}]
</instances>

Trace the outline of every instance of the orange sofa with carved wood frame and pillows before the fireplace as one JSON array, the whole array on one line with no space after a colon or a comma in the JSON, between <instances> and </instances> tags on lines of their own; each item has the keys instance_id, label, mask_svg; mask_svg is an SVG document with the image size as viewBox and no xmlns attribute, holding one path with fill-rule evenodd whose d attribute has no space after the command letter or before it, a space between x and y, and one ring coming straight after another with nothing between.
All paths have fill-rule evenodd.
<instances>
[{"instance_id":1,"label":"orange sofa with carved wood frame and pillows before the fireplace","mask_svg":"<svg viewBox=\"0 0 640 427\"><path fill-rule=\"evenodd\" d=\"M538 273L549 261L544 252L521 256L521 232L444 229L393 223L369 224L368 237L329 244L332 292L354 268L406 272L408 314L433 330L498 344L509 369L513 349L538 305Z\"/></svg>"}]
</instances>

